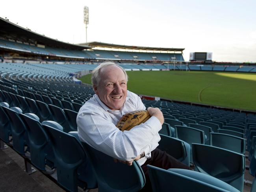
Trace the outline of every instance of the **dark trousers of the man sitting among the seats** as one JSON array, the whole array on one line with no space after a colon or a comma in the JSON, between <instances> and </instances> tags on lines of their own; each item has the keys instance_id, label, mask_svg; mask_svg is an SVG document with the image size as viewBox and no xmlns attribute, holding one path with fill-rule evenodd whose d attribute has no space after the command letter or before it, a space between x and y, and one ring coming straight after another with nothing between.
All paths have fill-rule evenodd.
<instances>
[{"instance_id":1,"label":"dark trousers of the man sitting among the seats","mask_svg":"<svg viewBox=\"0 0 256 192\"><path fill-rule=\"evenodd\" d=\"M166 170L169 168L189 169L189 166L186 164L178 161L165 151L161 151L160 149L156 148L155 150L151 151L151 158L147 159L147 161L141 166L146 178L146 183L140 192L152 192L147 165L156 166Z\"/></svg>"}]
</instances>

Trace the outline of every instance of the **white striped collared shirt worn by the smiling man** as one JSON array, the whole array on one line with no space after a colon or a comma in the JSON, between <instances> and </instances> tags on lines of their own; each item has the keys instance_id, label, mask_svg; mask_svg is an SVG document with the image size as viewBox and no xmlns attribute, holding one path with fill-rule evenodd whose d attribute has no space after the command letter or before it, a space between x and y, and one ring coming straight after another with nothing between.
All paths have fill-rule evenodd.
<instances>
[{"instance_id":1,"label":"white striped collared shirt worn by the smiling man","mask_svg":"<svg viewBox=\"0 0 256 192\"><path fill-rule=\"evenodd\" d=\"M115 126L124 114L139 109L146 107L139 96L128 90L123 107L115 111L95 94L78 112L78 135L96 150L122 161L130 161L145 151L145 157L138 160L143 165L160 141L158 131L162 126L158 118L152 116L130 131L122 132Z\"/></svg>"}]
</instances>

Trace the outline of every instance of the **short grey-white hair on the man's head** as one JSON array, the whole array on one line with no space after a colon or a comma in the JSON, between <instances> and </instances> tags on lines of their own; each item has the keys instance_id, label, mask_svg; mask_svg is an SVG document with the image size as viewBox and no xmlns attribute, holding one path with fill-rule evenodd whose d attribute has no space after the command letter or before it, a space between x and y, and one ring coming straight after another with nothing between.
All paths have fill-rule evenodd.
<instances>
[{"instance_id":1,"label":"short grey-white hair on the man's head","mask_svg":"<svg viewBox=\"0 0 256 192\"><path fill-rule=\"evenodd\" d=\"M122 71L124 72L124 75L126 78L126 83L128 82L128 75L127 75L126 71L121 66L117 65L114 62L104 62L104 63L101 63L100 65L98 65L92 72L91 82L93 85L98 86L98 82L100 81L100 69L104 68L106 66L109 66L109 65L115 65L115 66L118 66L119 68L121 68Z\"/></svg>"}]
</instances>

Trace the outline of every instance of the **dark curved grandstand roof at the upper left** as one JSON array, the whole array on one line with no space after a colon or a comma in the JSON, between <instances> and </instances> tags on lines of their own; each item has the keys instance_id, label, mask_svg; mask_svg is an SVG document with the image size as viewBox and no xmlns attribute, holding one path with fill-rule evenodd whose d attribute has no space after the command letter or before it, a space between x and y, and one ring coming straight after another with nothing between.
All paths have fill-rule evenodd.
<instances>
[{"instance_id":1,"label":"dark curved grandstand roof at the upper left","mask_svg":"<svg viewBox=\"0 0 256 192\"><path fill-rule=\"evenodd\" d=\"M0 35L11 35L16 34L19 37L26 37L29 39L33 39L37 41L38 44L53 46L53 47L61 47L66 49L76 49L76 50L83 50L87 48L91 48L88 46L80 46L76 44L70 44L62 41L58 41L56 39L52 39L50 37L45 37L45 35L41 35L39 33L35 33L30 29L26 29L20 27L17 24L9 22L8 19L4 19L0 17Z\"/></svg>"}]
</instances>

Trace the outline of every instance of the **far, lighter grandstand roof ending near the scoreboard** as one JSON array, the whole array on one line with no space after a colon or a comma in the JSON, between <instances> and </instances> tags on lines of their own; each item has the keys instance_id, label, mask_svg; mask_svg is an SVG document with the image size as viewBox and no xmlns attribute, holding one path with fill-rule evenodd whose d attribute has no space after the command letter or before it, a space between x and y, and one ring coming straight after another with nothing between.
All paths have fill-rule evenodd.
<instances>
[{"instance_id":1,"label":"far, lighter grandstand roof ending near the scoreboard","mask_svg":"<svg viewBox=\"0 0 256 192\"><path fill-rule=\"evenodd\" d=\"M161 47L143 47L143 46L129 46L129 45L119 45L119 44L111 44L104 42L86 42L80 43L82 46L89 47L102 47L102 48L114 48L114 49L130 49L130 50L146 50L146 51L180 51L182 52L185 48L161 48Z\"/></svg>"}]
</instances>

